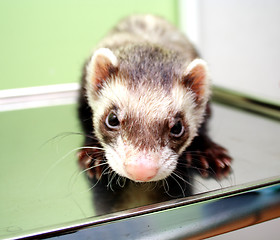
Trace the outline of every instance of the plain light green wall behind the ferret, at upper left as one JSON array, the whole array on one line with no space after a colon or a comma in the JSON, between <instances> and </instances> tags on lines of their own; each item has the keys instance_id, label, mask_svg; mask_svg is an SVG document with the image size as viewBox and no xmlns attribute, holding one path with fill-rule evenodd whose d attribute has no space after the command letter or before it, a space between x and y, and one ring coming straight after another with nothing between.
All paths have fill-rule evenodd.
<instances>
[{"instance_id":1,"label":"plain light green wall behind the ferret, at upper left","mask_svg":"<svg viewBox=\"0 0 280 240\"><path fill-rule=\"evenodd\" d=\"M120 18L177 23L176 0L1 0L0 89L79 81L84 60Z\"/></svg>"}]
</instances>

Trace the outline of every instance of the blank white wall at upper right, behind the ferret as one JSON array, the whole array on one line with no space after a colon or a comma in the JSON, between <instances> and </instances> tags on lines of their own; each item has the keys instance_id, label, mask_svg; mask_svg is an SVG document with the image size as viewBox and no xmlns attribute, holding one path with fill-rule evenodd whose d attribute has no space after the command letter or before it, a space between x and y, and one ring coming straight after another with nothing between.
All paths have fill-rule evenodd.
<instances>
[{"instance_id":1,"label":"blank white wall at upper right, behind the ferret","mask_svg":"<svg viewBox=\"0 0 280 240\"><path fill-rule=\"evenodd\" d=\"M280 106L280 1L181 0L180 16L214 84Z\"/></svg>"}]
</instances>

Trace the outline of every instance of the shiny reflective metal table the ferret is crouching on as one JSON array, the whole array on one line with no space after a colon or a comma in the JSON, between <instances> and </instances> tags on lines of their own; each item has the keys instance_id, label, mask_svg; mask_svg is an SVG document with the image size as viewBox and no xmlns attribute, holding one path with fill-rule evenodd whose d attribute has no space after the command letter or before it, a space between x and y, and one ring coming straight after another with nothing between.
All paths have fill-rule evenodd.
<instances>
[{"instance_id":1,"label":"shiny reflective metal table the ferret is crouching on","mask_svg":"<svg viewBox=\"0 0 280 240\"><path fill-rule=\"evenodd\" d=\"M77 164L83 137L74 104L1 112L0 239L178 239L271 206L267 219L279 216L279 121L212 107L210 135L229 150L232 173L217 180L190 170L188 184L170 183L169 194L153 184L112 191L89 181Z\"/></svg>"}]
</instances>

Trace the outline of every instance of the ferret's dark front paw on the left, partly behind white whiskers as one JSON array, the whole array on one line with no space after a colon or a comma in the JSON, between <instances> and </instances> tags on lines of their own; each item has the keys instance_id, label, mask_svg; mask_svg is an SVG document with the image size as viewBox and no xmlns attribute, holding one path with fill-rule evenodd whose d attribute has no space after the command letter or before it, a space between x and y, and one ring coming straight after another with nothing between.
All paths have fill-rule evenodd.
<instances>
[{"instance_id":1,"label":"ferret's dark front paw on the left, partly behind white whiskers","mask_svg":"<svg viewBox=\"0 0 280 240\"><path fill-rule=\"evenodd\" d=\"M87 173L88 177L97 180L100 179L103 171L103 160L97 158L97 150L92 148L84 148L78 152L78 161L80 167Z\"/></svg>"}]
</instances>

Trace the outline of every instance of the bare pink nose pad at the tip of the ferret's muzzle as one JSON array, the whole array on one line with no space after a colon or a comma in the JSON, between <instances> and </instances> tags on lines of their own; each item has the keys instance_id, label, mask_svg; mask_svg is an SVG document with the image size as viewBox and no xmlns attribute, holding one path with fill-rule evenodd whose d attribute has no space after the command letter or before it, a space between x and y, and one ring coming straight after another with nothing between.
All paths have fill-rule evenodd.
<instances>
[{"instance_id":1,"label":"bare pink nose pad at the tip of the ferret's muzzle","mask_svg":"<svg viewBox=\"0 0 280 240\"><path fill-rule=\"evenodd\" d=\"M147 182L154 178L158 173L158 167L147 165L147 163L129 163L125 164L125 170L130 179L138 182Z\"/></svg>"}]
</instances>

